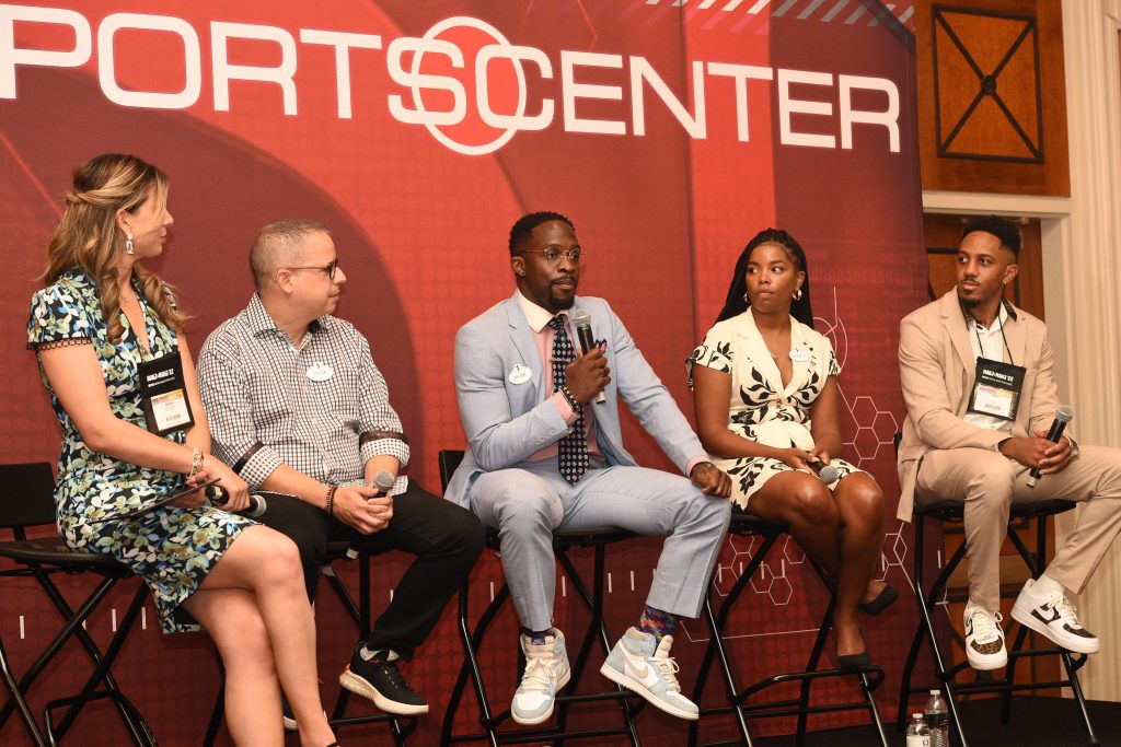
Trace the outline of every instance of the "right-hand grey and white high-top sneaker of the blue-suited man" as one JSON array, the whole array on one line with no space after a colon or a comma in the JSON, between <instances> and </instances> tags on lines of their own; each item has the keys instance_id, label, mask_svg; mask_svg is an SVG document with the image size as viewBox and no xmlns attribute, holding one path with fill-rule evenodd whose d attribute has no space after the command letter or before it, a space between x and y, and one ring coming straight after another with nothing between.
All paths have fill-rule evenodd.
<instances>
[{"instance_id":1,"label":"right-hand grey and white high-top sneaker of the blue-suited man","mask_svg":"<svg viewBox=\"0 0 1121 747\"><path fill-rule=\"evenodd\" d=\"M682 685L677 682L677 662L669 655L673 645L671 635L657 644L654 635L628 628L608 654L600 673L615 684L633 690L656 708L695 721L700 711L696 703L682 694Z\"/></svg>"}]
</instances>

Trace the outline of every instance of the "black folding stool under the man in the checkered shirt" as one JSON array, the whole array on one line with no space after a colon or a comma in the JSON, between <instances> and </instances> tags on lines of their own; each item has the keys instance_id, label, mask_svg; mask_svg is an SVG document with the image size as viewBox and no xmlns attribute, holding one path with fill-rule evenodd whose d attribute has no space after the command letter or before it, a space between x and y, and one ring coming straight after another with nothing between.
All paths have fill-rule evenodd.
<instances>
[{"instance_id":1,"label":"black folding stool under the man in the checkered shirt","mask_svg":"<svg viewBox=\"0 0 1121 747\"><path fill-rule=\"evenodd\" d=\"M326 577L327 583L330 583L331 588L334 589L335 596L339 598L343 609L348 613L348 615L350 615L351 619L354 620L359 633L364 634L370 629L370 620L372 617L370 614L370 558L372 555L371 553L360 552L355 558L351 558L348 553L349 550L349 541L341 540L328 542L327 552L324 555L324 566L321 570L323 576ZM346 588L346 585L343 583L342 579L335 575L333 563L336 560L354 560L358 562L358 601L354 600L353 595L350 592L350 589ZM222 660L219 657L219 667L221 666ZM331 712L331 718L327 719L327 722L335 730L336 736L341 734L343 727L388 721L393 744L399 747L404 747L408 736L417 728L416 717L396 716L393 713L346 716L346 706L350 703L351 694L350 690L342 687L339 688L339 697L335 699L334 710ZM225 676L223 670L222 685L219 688L214 708L211 710L210 723L206 727L206 736L203 739L204 747L212 747L214 740L217 738L217 730L222 723L222 717L225 711L224 695Z\"/></svg>"}]
</instances>

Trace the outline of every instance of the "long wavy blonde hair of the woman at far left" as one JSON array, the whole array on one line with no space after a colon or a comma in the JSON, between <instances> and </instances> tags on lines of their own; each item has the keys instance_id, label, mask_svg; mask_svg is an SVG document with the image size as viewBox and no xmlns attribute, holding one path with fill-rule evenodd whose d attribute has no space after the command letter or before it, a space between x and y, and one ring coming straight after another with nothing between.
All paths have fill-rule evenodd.
<instances>
[{"instance_id":1,"label":"long wavy blonde hair of the woman at far left","mask_svg":"<svg viewBox=\"0 0 1121 747\"><path fill-rule=\"evenodd\" d=\"M167 203L167 176L135 156L104 153L74 169L73 189L47 251L47 269L39 280L50 284L66 270L77 269L98 284L101 315L109 325L109 339L119 343L124 332L120 319L120 230L118 211L136 212L155 190L159 207ZM140 282L143 297L160 320L183 332L187 315L173 305L170 289L156 273L139 264L132 276Z\"/></svg>"}]
</instances>

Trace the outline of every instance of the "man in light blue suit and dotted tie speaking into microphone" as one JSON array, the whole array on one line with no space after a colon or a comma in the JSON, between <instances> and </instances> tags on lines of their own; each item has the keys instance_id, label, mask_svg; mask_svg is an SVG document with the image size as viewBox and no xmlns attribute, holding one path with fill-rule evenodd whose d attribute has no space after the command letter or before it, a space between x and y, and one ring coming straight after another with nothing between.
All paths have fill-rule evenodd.
<instances>
[{"instance_id":1,"label":"man in light blue suit and dotted tie speaking into microphone","mask_svg":"<svg viewBox=\"0 0 1121 747\"><path fill-rule=\"evenodd\" d=\"M606 301L576 296L582 253L572 222L557 213L531 213L511 228L518 290L455 338L471 448L446 497L500 533L526 655L515 721L547 720L569 679L564 635L552 626L552 533L604 525L667 539L639 624L600 671L661 710L696 719L675 676L670 634L678 616L701 611L728 530L731 480ZM594 342L584 354L572 320L581 312L591 315ZM622 443L620 399L688 478L636 465Z\"/></svg>"}]
</instances>

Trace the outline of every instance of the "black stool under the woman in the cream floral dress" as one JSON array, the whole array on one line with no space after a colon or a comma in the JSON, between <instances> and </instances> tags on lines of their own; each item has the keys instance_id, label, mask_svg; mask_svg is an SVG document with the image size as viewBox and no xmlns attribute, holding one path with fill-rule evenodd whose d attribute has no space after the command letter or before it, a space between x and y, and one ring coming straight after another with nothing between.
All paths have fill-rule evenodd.
<instances>
[{"instance_id":1,"label":"black stool under the woman in the cream floral dress","mask_svg":"<svg viewBox=\"0 0 1121 747\"><path fill-rule=\"evenodd\" d=\"M748 720L758 718L775 718L775 717L798 717L798 731L797 731L797 744L802 745L806 739L806 723L808 716L810 713L830 713L835 711L850 711L850 710L867 710L872 723L876 726L877 732L880 736L880 744L887 747L888 740L887 736L883 734L883 722L880 720L880 713L876 708L876 700L872 697L872 691L876 690L883 682L883 670L877 665L869 665L856 672L850 672L840 669L832 670L818 670L817 665L821 661L822 651L825 648L825 641L828 637L830 629L833 626L833 607L835 605L835 599L831 596L830 604L825 609L825 614L822 616L822 623L817 633L817 637L814 639L814 646L809 653L809 660L806 662L806 669L802 672L789 672L786 674L776 674L773 676L763 678L758 682L750 684L748 687L740 685L734 671L732 670L731 659L729 652L724 645L721 634L724 631L724 626L728 623L728 617L732 611L732 607L735 605L740 595L747 588L748 583L751 582L751 577L756 573L763 561L767 559L767 554L770 552L775 543L786 534L786 527L780 524L772 524L770 522L763 521L758 516L752 516L743 512L741 508L735 507L732 510L732 523L728 529L729 534L735 534L738 536L758 536L762 540L762 544L759 550L752 555L751 562L749 562L743 570L740 572L740 578L736 580L735 585L728 592L724 598L723 604L720 606L720 610L713 614L712 609L712 591L705 597L704 600L704 617L708 623L708 632L711 638L708 639L708 646L705 648L704 657L701 661L701 670L697 674L696 685L693 690L693 701L698 706L702 703L702 698L704 697L705 684L708 679L708 670L712 666L713 659L720 660L721 674L724 679L724 685L726 688L728 706L720 706L714 708L702 708L701 717L713 716L716 713L735 713L736 721L739 722L740 734L742 736L743 744L749 747L753 745L751 739L751 732L748 730ZM817 575L825 581L825 576L817 566L814 566L814 570ZM715 588L713 582L710 589ZM836 703L828 706L810 706L810 685L822 679L828 678L854 678L858 680L861 693L864 695L862 701L853 701L845 703ZM768 688L789 683L798 682L800 683L800 690L797 698L786 699L786 700L769 700L749 703L748 699L752 698L759 692L767 690ZM697 738L700 732L700 721L694 721L689 725L689 741L692 746L697 745ZM707 743L707 745L716 744L735 744L732 741L728 743Z\"/></svg>"}]
</instances>

